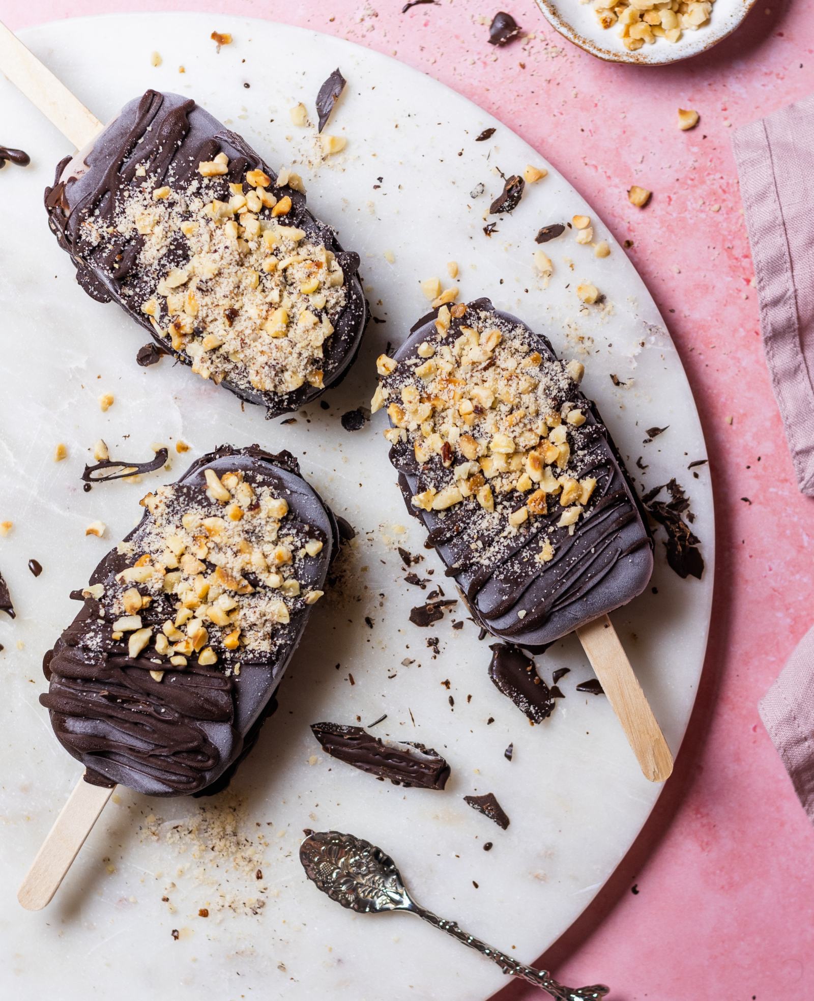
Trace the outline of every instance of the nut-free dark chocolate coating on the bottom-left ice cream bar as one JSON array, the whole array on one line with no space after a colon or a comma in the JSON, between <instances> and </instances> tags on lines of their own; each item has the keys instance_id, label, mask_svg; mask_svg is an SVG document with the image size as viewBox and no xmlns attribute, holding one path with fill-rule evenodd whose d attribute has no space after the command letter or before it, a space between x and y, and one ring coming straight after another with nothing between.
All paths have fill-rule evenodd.
<instances>
[{"instance_id":1,"label":"nut-free dark chocolate coating on the bottom-left ice cream bar","mask_svg":"<svg viewBox=\"0 0 814 1001\"><path fill-rule=\"evenodd\" d=\"M256 445L240 449L223 445L197 459L177 481L179 495L189 498L190 505L205 491L206 468L221 475L241 469L251 483L269 486L286 499L293 516L287 524L302 526L310 538L323 542L321 552L300 573L303 588L319 588L335 552L336 527L318 494L300 476L293 456L272 455ZM145 512L125 542L138 538L147 519ZM91 575L90 584L112 589L116 574L126 566L127 557L113 549ZM289 623L277 627L278 642L267 656L238 650L230 660L224 652L213 667L190 660L177 670L149 659L154 657L150 648L131 659L126 645L112 638L110 614L100 619L100 602L85 594L76 619L45 655L43 668L50 686L40 702L50 711L59 742L86 766L86 781L120 783L149 796L222 788L276 707L274 690L310 607L292 612ZM144 626L160 629L167 606L155 600L141 616ZM236 663L239 674L223 670L224 665L233 669ZM160 682L149 673L156 667L166 668Z\"/></svg>"}]
</instances>

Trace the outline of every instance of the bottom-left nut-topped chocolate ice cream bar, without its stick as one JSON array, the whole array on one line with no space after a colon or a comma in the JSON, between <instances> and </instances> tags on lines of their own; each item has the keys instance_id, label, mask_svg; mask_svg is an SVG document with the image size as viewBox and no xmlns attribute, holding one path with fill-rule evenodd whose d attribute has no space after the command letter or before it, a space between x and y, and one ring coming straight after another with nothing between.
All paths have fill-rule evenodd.
<instances>
[{"instance_id":1,"label":"bottom-left nut-topped chocolate ice cream bar, without its stick","mask_svg":"<svg viewBox=\"0 0 814 1001\"><path fill-rule=\"evenodd\" d=\"M222 446L142 500L74 593L40 702L87 781L215 792L250 750L336 547L287 452Z\"/></svg>"}]
</instances>

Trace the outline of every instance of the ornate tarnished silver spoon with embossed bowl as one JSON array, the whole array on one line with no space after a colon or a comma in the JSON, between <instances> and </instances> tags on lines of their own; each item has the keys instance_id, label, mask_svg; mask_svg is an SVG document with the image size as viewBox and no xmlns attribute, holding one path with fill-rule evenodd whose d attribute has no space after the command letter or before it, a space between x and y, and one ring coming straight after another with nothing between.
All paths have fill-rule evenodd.
<instances>
[{"instance_id":1,"label":"ornate tarnished silver spoon with embossed bowl","mask_svg":"<svg viewBox=\"0 0 814 1001\"><path fill-rule=\"evenodd\" d=\"M418 914L459 942L488 956L504 973L542 987L557 1001L597 1001L609 991L602 984L576 990L564 987L546 970L524 966L486 942L468 935L455 921L447 921L421 907L408 893L389 855L369 841L355 838L352 834L339 834L338 831L310 832L299 847L299 861L308 879L342 907L361 914L380 914L382 911Z\"/></svg>"}]
</instances>

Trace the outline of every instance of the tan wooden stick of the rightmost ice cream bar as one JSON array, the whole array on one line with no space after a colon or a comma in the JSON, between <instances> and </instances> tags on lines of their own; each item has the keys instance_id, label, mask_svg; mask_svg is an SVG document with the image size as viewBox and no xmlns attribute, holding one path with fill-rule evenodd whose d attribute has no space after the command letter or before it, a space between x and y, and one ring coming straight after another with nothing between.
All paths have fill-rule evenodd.
<instances>
[{"instance_id":1,"label":"tan wooden stick of the rightmost ice cream bar","mask_svg":"<svg viewBox=\"0 0 814 1001\"><path fill-rule=\"evenodd\" d=\"M613 623L608 616L602 616L578 629L577 636L645 778L664 782L673 771L673 755Z\"/></svg>"}]
</instances>

